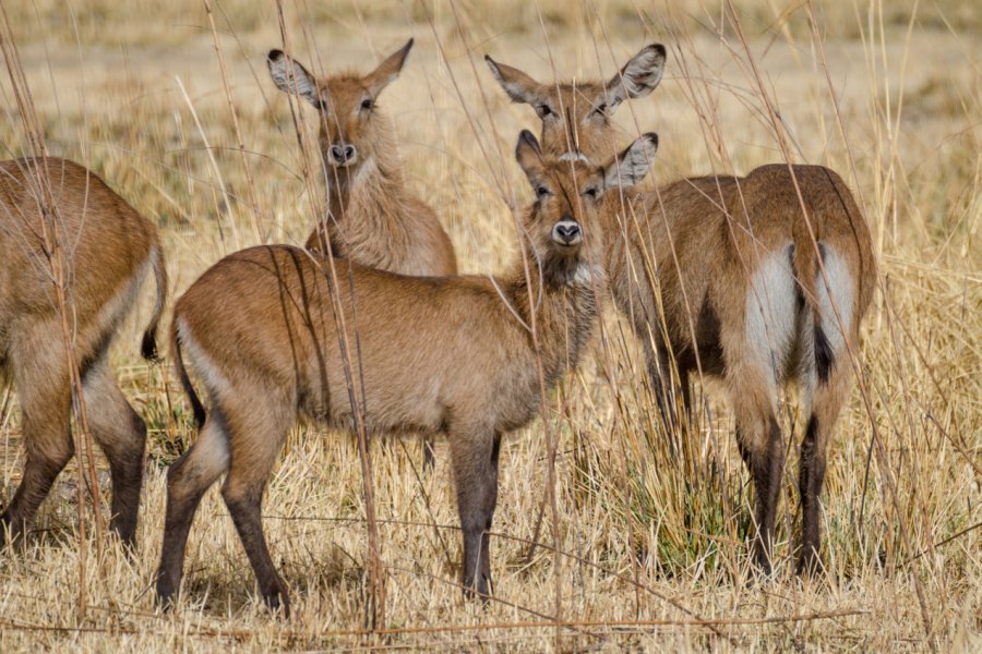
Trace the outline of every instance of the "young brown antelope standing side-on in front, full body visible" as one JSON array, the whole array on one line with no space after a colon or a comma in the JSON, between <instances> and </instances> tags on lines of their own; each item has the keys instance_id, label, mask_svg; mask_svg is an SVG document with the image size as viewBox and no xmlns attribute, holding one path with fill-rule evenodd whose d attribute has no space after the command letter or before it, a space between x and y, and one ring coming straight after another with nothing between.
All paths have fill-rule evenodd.
<instances>
[{"instance_id":1,"label":"young brown antelope standing side-on in front, full body visible","mask_svg":"<svg viewBox=\"0 0 982 654\"><path fill-rule=\"evenodd\" d=\"M523 132L516 159L536 202L524 218L526 258L503 278L407 277L354 265L350 279L334 287L323 258L273 245L232 254L195 281L175 307L175 362L188 397L201 407L183 352L211 409L196 441L168 471L159 601L169 605L179 588L194 511L227 471L221 495L260 592L270 607L289 611L260 506L298 417L351 428L335 301L349 343L358 330L360 361L350 382L363 393L357 404L367 433L447 436L464 585L469 596L487 598L501 438L538 413L539 362L551 388L586 348L598 320L595 288L616 195L608 191L647 174L657 143L646 134L620 159L591 167L544 158L535 136Z\"/></svg>"}]
</instances>

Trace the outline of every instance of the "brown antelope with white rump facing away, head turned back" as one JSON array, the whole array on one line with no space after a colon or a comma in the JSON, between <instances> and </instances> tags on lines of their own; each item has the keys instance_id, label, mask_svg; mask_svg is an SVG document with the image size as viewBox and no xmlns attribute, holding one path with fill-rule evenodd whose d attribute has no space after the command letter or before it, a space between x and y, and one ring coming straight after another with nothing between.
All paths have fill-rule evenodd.
<instances>
[{"instance_id":1,"label":"brown antelope with white rump facing away, head turned back","mask_svg":"<svg viewBox=\"0 0 982 654\"><path fill-rule=\"evenodd\" d=\"M592 159L613 147L610 112L658 84L664 48L648 46L606 84L575 88L539 84L490 58L488 64L512 99L536 108L550 155ZM855 353L876 276L870 230L852 193L827 168L780 164L743 178L681 180L626 201L628 217L608 241L614 302L644 343L666 415L674 415L674 392L663 382L672 370L686 411L692 372L726 379L756 489L755 558L765 571L785 465L778 387L792 379L801 385L809 420L799 473L799 571L813 569L828 441L848 397L850 350Z\"/></svg>"}]
</instances>

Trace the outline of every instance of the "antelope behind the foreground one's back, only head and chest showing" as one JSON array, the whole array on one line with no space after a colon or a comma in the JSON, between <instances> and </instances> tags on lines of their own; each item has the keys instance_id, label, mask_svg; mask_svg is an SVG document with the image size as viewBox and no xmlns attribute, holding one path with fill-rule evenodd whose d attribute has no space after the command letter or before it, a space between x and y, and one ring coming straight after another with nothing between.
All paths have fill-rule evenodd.
<instances>
[{"instance_id":1,"label":"antelope behind the foreground one's back, only head and chest showing","mask_svg":"<svg viewBox=\"0 0 982 654\"><path fill-rule=\"evenodd\" d=\"M392 123L379 95L403 70L414 39L368 75L316 80L280 50L266 62L276 86L306 98L320 113L319 145L327 184L327 215L306 247L402 275L457 274L454 246L436 214L406 189ZM424 467L433 444L424 441Z\"/></svg>"}]
</instances>

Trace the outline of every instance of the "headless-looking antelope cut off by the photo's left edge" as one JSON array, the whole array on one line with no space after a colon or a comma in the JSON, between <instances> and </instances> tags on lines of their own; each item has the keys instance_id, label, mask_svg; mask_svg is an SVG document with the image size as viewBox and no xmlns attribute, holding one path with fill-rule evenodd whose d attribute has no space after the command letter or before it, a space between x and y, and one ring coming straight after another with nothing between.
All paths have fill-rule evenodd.
<instances>
[{"instance_id":1,"label":"headless-looking antelope cut off by the photo's left edge","mask_svg":"<svg viewBox=\"0 0 982 654\"><path fill-rule=\"evenodd\" d=\"M41 191L45 183L53 207ZM164 256L149 220L95 173L57 158L0 162L0 378L12 382L20 397L27 450L21 484L0 516L0 544L26 534L74 453L70 360L47 267L46 229L57 232L68 262L68 320L87 423L109 460L112 480L110 528L132 546L146 425L116 385L108 351L153 271L156 304L142 353L156 358L156 330L167 295Z\"/></svg>"}]
</instances>

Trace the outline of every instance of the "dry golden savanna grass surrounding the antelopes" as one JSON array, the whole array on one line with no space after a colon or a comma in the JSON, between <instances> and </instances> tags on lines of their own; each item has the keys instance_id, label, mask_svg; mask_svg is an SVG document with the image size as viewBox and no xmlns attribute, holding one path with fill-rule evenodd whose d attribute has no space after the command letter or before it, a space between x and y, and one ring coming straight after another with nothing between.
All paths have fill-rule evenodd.
<instances>
[{"instance_id":1,"label":"dry golden savanna grass surrounding the antelopes","mask_svg":"<svg viewBox=\"0 0 982 654\"><path fill-rule=\"evenodd\" d=\"M647 183L742 174L788 158L829 166L864 209L881 266L862 377L830 449L824 578L793 576L802 435L793 389L781 404L790 456L777 573L761 581L747 557L750 480L722 389L707 383L697 393L695 437L666 434L638 343L608 311L579 372L541 420L506 441L492 538L496 600L487 608L464 602L456 585L445 444L431 472L420 470L415 440L372 448L386 591L373 632L358 449L349 435L309 426L291 433L264 505L294 617L271 618L254 595L217 487L191 532L183 600L170 614L155 610L166 467L193 429L170 365L137 356L146 291L112 351L121 387L149 427L139 553L96 541L91 528L80 543L80 475L71 464L26 552L0 555L0 650L982 647L978 7L15 0L0 8L2 37L16 46L49 152L89 166L156 222L172 296L229 252L302 243L323 206L313 110L294 105L304 117L298 129L264 62L284 38L318 73L367 72L416 38L380 106L396 124L409 185L436 209L463 271L501 271L516 255L514 211L530 192L512 152L522 128L538 130L531 108L510 104L498 87L483 53L543 82L606 80L648 43L669 49L664 80L615 116L623 144L643 131L660 135ZM0 90L2 157L27 154L7 71ZM23 465L9 388L0 409L5 504ZM105 518L108 475L98 483ZM555 512L547 501L553 491ZM541 545L528 557L541 507ZM92 524L91 509L81 516Z\"/></svg>"}]
</instances>

